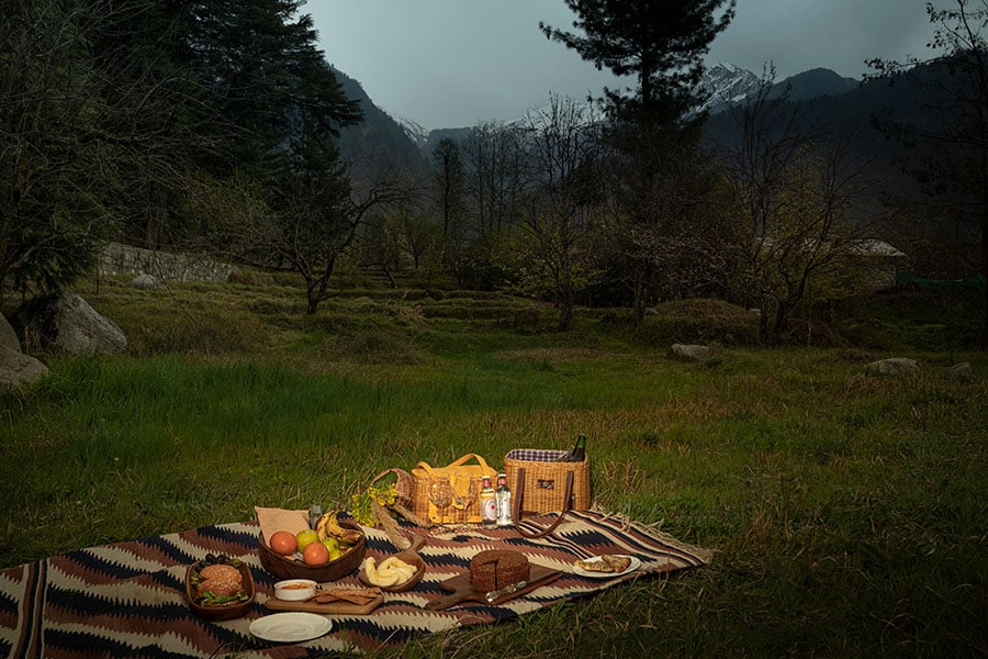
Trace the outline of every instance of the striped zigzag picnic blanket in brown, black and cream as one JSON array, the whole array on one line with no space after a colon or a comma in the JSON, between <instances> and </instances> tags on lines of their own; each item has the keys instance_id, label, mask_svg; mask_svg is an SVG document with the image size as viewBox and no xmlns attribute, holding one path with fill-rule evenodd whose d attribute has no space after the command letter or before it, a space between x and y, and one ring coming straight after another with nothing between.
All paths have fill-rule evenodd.
<instances>
[{"instance_id":1,"label":"striped zigzag picnic blanket in brown, black and cream","mask_svg":"<svg viewBox=\"0 0 988 659\"><path fill-rule=\"evenodd\" d=\"M546 525L554 514L527 523ZM428 536L420 555L427 571L422 583L404 593L386 593L369 615L333 615L326 636L296 645L256 638L248 627L270 614L263 602L273 596L278 578L257 554L257 523L216 524L194 530L80 549L0 571L0 656L38 658L91 657L315 657L330 651L361 651L401 644L423 634L506 621L562 600L584 597L643 574L704 565L710 552L627 518L602 512L571 512L552 534L523 538L513 529L447 532ZM367 528L368 556L395 551L380 529ZM409 527L412 533L426 529ZM483 549L514 549L534 563L563 576L499 606L467 603L446 611L425 604L446 591L441 581L464 573ZM257 601L244 618L204 621L183 597L188 565L206 552L226 554L250 566ZM580 577L573 561L600 554L627 554L641 568L610 580ZM360 585L356 573L337 583Z\"/></svg>"}]
</instances>

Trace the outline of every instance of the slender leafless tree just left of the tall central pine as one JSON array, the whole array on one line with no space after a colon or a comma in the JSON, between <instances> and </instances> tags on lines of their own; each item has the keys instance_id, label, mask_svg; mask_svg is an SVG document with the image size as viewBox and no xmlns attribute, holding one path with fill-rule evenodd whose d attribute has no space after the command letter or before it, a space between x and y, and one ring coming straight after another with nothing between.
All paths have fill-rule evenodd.
<instances>
[{"instance_id":1,"label":"slender leafless tree just left of the tall central pine","mask_svg":"<svg viewBox=\"0 0 988 659\"><path fill-rule=\"evenodd\" d=\"M525 273L555 298L559 330L570 328L576 293L593 277L595 211L599 177L598 118L572 100L553 97L527 119L527 153L532 183L519 225L527 258Z\"/></svg>"}]
</instances>

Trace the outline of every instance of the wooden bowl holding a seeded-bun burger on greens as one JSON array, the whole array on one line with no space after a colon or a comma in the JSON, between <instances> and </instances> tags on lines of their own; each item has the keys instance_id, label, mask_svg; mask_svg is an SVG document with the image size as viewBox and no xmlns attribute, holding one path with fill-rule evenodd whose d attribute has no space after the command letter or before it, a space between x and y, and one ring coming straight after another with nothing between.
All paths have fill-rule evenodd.
<instances>
[{"instance_id":1,"label":"wooden bowl holding a seeded-bun burger on greens","mask_svg":"<svg viewBox=\"0 0 988 659\"><path fill-rule=\"evenodd\" d=\"M206 554L186 569L186 601L207 621L229 621L250 611L257 591L244 561Z\"/></svg>"}]
</instances>

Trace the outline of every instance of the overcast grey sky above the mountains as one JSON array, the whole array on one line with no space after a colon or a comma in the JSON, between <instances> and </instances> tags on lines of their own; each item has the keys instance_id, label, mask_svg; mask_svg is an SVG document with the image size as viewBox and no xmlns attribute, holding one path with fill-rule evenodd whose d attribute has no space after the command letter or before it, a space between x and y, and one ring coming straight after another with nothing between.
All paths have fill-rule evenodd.
<instances>
[{"instance_id":1,"label":"overcast grey sky above the mountains","mask_svg":"<svg viewBox=\"0 0 988 659\"><path fill-rule=\"evenodd\" d=\"M945 0L939 0L942 4ZM931 54L925 0L738 0L708 64L777 78L815 67L860 77L872 57ZM326 59L374 103L426 129L514 120L550 93L583 99L631 86L597 71L539 21L571 30L563 0L307 0Z\"/></svg>"}]
</instances>

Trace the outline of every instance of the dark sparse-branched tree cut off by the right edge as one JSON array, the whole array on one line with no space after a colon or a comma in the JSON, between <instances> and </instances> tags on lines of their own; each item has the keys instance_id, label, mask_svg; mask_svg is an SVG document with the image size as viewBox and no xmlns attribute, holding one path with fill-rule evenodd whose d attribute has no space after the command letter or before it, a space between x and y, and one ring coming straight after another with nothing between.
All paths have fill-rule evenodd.
<instances>
[{"instance_id":1,"label":"dark sparse-branched tree cut off by the right edge","mask_svg":"<svg viewBox=\"0 0 988 659\"><path fill-rule=\"evenodd\" d=\"M911 58L905 63L873 59L868 64L878 75L892 81L909 78L934 87L938 107L933 116L943 119L940 127L911 125L884 118L889 133L927 152L924 161L911 168L934 202L938 214L957 219L958 225L974 227L980 246L980 264L973 267L986 275L988 268L988 0L954 0L951 9L927 3L933 25L928 44L936 52L932 60ZM945 75L924 78L931 64ZM980 234L977 236L977 234ZM983 300L981 346L988 347L988 284Z\"/></svg>"}]
</instances>

